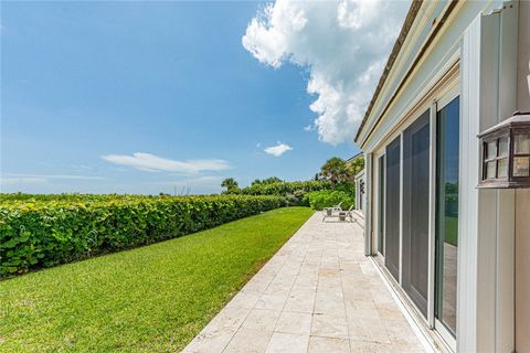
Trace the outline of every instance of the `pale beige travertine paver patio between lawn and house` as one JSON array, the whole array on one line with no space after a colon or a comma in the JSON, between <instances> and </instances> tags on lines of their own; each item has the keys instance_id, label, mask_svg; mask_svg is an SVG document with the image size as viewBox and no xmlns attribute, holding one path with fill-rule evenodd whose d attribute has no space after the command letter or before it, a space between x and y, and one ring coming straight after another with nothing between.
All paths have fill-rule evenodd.
<instances>
[{"instance_id":1,"label":"pale beige travertine paver patio between lawn and house","mask_svg":"<svg viewBox=\"0 0 530 353\"><path fill-rule=\"evenodd\" d=\"M184 352L424 352L356 221L312 215Z\"/></svg>"}]
</instances>

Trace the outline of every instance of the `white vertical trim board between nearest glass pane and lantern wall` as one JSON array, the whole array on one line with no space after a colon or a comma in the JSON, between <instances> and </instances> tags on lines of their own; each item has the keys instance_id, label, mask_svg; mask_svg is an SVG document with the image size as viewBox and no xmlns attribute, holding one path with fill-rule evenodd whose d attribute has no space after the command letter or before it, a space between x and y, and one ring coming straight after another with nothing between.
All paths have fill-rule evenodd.
<instances>
[{"instance_id":1,"label":"white vertical trim board between nearest glass pane and lantern wall","mask_svg":"<svg viewBox=\"0 0 530 353\"><path fill-rule=\"evenodd\" d=\"M457 350L459 352L477 351L477 243L478 229L476 214L478 210L479 156L478 145L469 136L479 131L479 58L480 24L478 17L466 30L460 47L460 171L471 168L469 173L459 176L459 222L458 234L458 295L457 295Z\"/></svg>"}]
</instances>

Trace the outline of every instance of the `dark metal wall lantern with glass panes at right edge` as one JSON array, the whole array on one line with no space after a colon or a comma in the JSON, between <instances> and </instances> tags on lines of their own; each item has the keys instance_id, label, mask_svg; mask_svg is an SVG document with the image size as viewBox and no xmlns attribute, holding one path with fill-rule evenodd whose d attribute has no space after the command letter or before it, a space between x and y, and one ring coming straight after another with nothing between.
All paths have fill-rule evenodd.
<instances>
[{"instance_id":1,"label":"dark metal wall lantern with glass panes at right edge","mask_svg":"<svg viewBox=\"0 0 530 353\"><path fill-rule=\"evenodd\" d=\"M530 188L530 113L516 111L478 138L483 143L478 188Z\"/></svg>"}]
</instances>

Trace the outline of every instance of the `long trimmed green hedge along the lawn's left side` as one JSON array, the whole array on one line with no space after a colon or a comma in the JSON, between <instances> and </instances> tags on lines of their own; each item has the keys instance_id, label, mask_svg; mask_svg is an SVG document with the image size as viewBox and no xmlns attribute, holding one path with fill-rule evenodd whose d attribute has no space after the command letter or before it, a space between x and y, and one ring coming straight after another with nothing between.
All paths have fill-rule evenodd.
<instances>
[{"instance_id":1,"label":"long trimmed green hedge along the lawn's left side","mask_svg":"<svg viewBox=\"0 0 530 353\"><path fill-rule=\"evenodd\" d=\"M0 196L0 279L282 207L278 196Z\"/></svg>"}]
</instances>

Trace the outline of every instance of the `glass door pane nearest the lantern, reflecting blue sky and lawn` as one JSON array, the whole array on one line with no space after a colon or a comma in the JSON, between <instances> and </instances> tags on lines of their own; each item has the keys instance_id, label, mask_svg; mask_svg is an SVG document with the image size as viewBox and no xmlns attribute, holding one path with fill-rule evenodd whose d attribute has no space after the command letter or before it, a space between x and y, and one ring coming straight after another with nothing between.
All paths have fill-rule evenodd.
<instances>
[{"instance_id":1,"label":"glass door pane nearest the lantern, reflecting blue sky and lawn","mask_svg":"<svg viewBox=\"0 0 530 353\"><path fill-rule=\"evenodd\" d=\"M456 334L459 98L437 113L435 317Z\"/></svg>"}]
</instances>

